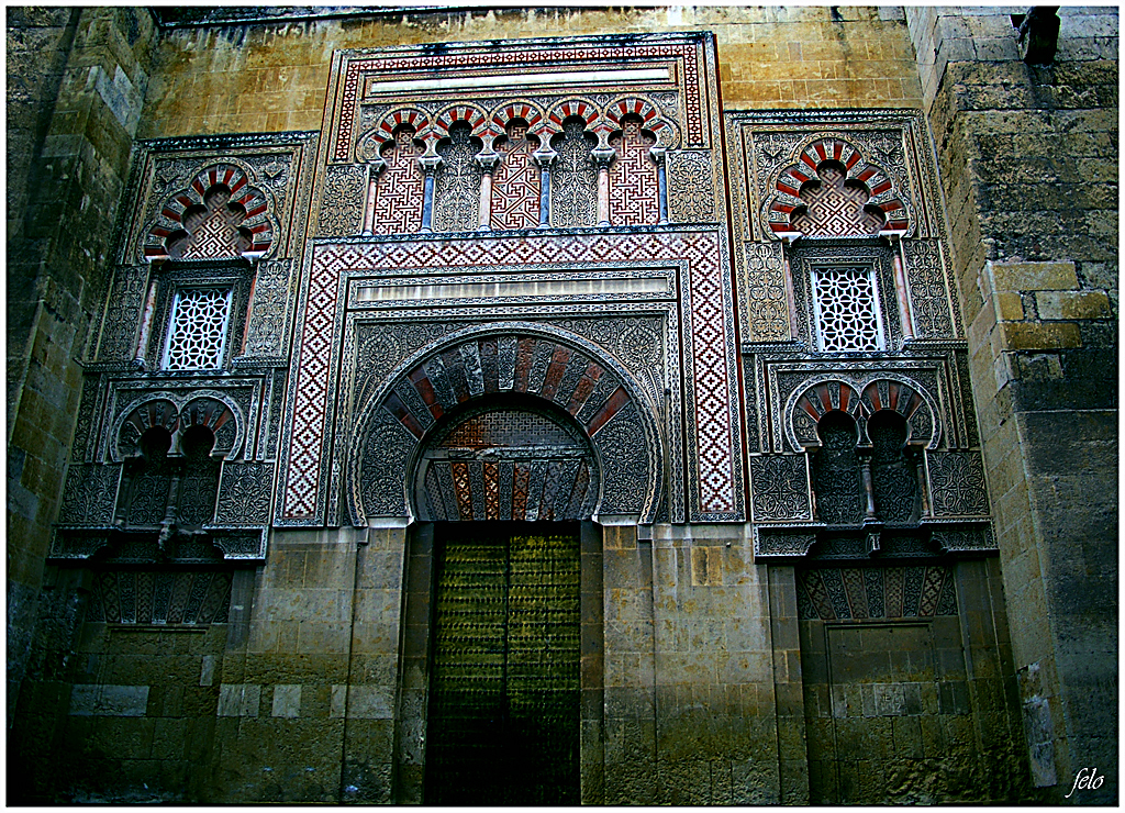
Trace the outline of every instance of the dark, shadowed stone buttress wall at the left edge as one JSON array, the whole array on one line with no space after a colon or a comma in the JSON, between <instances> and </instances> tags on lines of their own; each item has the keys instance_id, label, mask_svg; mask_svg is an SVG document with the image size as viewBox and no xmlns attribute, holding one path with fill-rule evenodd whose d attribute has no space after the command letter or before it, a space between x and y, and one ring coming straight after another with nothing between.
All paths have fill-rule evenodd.
<instances>
[{"instance_id":1,"label":"dark, shadowed stone buttress wall at the left edge","mask_svg":"<svg viewBox=\"0 0 1125 813\"><path fill-rule=\"evenodd\" d=\"M8 713L148 83L146 11L8 12Z\"/></svg>"}]
</instances>

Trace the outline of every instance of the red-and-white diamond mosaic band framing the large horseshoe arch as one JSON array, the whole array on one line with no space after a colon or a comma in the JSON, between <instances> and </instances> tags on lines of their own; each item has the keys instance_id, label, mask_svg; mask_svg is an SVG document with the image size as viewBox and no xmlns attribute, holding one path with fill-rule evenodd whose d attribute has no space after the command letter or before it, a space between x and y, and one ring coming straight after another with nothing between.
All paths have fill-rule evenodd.
<instances>
[{"instance_id":1,"label":"red-and-white diamond mosaic band framing the large horseshoe arch","mask_svg":"<svg viewBox=\"0 0 1125 813\"><path fill-rule=\"evenodd\" d=\"M324 437L331 381L331 349L336 291L346 268L520 267L531 263L620 263L685 261L688 267L691 329L688 355L694 381L696 421L692 427L699 472L699 509L722 514L735 509L734 400L728 369L728 328L719 242L712 233L569 235L521 241L336 244L314 250L308 301L298 350L295 409L289 416L289 461L282 516L312 518L321 497Z\"/></svg>"}]
</instances>

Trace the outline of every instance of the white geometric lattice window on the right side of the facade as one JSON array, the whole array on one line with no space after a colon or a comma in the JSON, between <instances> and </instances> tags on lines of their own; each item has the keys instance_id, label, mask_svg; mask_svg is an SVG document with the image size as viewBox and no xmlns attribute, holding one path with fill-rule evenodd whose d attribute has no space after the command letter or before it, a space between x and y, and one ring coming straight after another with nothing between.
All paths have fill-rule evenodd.
<instances>
[{"instance_id":1,"label":"white geometric lattice window on the right side of the facade","mask_svg":"<svg viewBox=\"0 0 1125 813\"><path fill-rule=\"evenodd\" d=\"M832 352L883 347L879 290L870 267L813 270L812 301L820 350Z\"/></svg>"}]
</instances>

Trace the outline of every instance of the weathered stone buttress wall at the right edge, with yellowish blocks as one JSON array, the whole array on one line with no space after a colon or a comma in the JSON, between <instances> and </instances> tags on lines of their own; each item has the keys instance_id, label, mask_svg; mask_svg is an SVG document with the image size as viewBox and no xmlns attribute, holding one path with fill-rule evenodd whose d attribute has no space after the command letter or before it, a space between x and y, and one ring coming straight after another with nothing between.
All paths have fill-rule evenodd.
<instances>
[{"instance_id":1,"label":"weathered stone buttress wall at the right edge, with yellowish blocks","mask_svg":"<svg viewBox=\"0 0 1125 813\"><path fill-rule=\"evenodd\" d=\"M937 141L1043 801L1117 770L1117 11L908 9ZM1071 803L1113 803L1113 780Z\"/></svg>"}]
</instances>

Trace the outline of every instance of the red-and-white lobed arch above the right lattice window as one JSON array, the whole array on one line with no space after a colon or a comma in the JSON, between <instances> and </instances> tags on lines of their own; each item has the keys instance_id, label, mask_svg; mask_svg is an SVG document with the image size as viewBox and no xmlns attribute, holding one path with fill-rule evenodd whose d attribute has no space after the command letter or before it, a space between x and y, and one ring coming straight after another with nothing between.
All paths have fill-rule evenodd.
<instances>
[{"instance_id":1,"label":"red-and-white lobed arch above the right lattice window","mask_svg":"<svg viewBox=\"0 0 1125 813\"><path fill-rule=\"evenodd\" d=\"M800 148L770 190L763 220L775 240L794 234L858 237L914 228L889 173L860 147L835 136L818 137Z\"/></svg>"}]
</instances>

